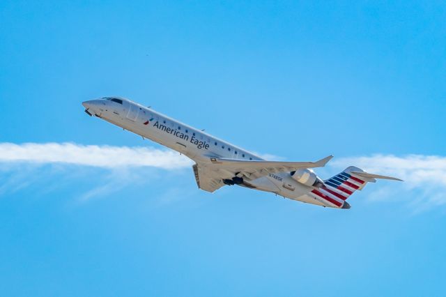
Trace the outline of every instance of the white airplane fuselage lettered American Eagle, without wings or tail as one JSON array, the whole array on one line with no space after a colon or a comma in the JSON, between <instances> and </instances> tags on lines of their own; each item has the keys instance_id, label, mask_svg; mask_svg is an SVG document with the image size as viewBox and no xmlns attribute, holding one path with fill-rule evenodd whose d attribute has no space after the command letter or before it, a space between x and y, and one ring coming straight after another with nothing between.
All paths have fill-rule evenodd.
<instances>
[{"instance_id":1,"label":"white airplane fuselage lettered American Eagle, without wings or tail","mask_svg":"<svg viewBox=\"0 0 446 297\"><path fill-rule=\"evenodd\" d=\"M197 163L210 163L210 158L263 160L243 148L224 142L130 100L102 98L84 102L83 105L89 114L167 146ZM270 173L248 183L256 190L273 192L289 199L324 206L320 201L308 195L312 188L298 183L286 172Z\"/></svg>"}]
</instances>

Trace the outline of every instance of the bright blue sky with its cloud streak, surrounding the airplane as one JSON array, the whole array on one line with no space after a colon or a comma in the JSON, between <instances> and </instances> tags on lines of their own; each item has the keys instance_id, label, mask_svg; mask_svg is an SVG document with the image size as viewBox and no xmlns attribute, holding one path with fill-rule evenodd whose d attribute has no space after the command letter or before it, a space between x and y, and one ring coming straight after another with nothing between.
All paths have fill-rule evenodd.
<instances>
[{"instance_id":1,"label":"bright blue sky with its cloud streak, surrounding the airplane","mask_svg":"<svg viewBox=\"0 0 446 297\"><path fill-rule=\"evenodd\" d=\"M0 15L2 295L446 294L443 1L1 1ZM283 160L333 154L323 177L358 165L406 182L368 185L349 211L211 195L187 160L84 114L114 95ZM86 160L92 146L144 166Z\"/></svg>"}]
</instances>

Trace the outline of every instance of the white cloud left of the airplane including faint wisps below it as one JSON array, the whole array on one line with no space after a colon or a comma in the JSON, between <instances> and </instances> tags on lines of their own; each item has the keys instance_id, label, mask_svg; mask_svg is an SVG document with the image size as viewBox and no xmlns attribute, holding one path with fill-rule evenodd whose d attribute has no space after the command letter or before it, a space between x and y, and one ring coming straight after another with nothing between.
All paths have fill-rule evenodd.
<instances>
[{"instance_id":1,"label":"white cloud left of the airplane including faint wisps below it","mask_svg":"<svg viewBox=\"0 0 446 297\"><path fill-rule=\"evenodd\" d=\"M79 182L79 174L91 174L86 171L88 167L107 170L91 182L89 190L78 193L77 199L82 202L139 184L141 176L150 176L153 181L160 176L153 169L190 168L192 161L174 151L152 147L0 143L0 164L0 196L39 184L45 184L40 192L55 190L69 176ZM48 183L54 176L58 182Z\"/></svg>"}]
</instances>

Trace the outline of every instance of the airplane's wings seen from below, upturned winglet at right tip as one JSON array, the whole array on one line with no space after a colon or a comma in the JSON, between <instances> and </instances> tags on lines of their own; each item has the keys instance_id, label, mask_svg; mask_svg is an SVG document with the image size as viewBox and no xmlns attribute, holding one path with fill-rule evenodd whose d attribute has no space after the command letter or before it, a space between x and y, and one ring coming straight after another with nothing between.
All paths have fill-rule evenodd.
<instances>
[{"instance_id":1,"label":"airplane's wings seen from below, upturned winglet at right tip","mask_svg":"<svg viewBox=\"0 0 446 297\"><path fill-rule=\"evenodd\" d=\"M202 190L214 192L220 189L224 179L234 177L252 181L270 173L293 172L298 169L323 167L333 158L332 155L316 162L278 162L264 160L238 160L228 158L210 158L210 164L194 165L197 185Z\"/></svg>"}]
</instances>

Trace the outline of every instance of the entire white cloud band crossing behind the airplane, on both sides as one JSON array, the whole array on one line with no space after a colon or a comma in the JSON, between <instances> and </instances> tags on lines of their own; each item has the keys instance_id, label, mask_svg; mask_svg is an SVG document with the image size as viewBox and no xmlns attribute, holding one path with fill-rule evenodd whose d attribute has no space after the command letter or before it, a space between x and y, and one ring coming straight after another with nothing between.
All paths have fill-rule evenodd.
<instances>
[{"instance_id":1,"label":"entire white cloud band crossing behind the airplane, on both sides","mask_svg":"<svg viewBox=\"0 0 446 297\"><path fill-rule=\"evenodd\" d=\"M263 156L268 159L272 157L278 159L271 155ZM79 196L81 201L109 195L134 183L146 183L146 178L139 181L139 176L149 174L152 178L159 177L160 174L153 169L176 172L171 170L190 168L192 165L191 160L174 151L151 147L84 146L73 143L0 143L0 163L0 195L38 184L39 180L48 181L53 174L64 172L60 168L66 168L68 165L70 168L79 168L77 171L70 169L70 176L75 174L73 172L82 172L82 168L87 167L107 170L108 173L102 174L97 185L81 193ZM397 200L415 211L446 205L446 195L443 194L446 192L446 157L371 155L335 158L325 171L339 172L350 165L367 172L402 178L405 181L381 183L375 189L367 187L364 192L367 193L369 201L384 203ZM138 170L144 170L144 174L134 174L136 167L139 167ZM42 179L44 173L47 177ZM116 176L120 181L120 187L116 187Z\"/></svg>"}]
</instances>

